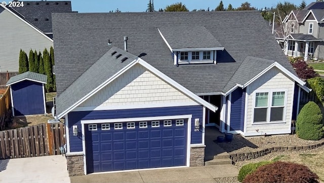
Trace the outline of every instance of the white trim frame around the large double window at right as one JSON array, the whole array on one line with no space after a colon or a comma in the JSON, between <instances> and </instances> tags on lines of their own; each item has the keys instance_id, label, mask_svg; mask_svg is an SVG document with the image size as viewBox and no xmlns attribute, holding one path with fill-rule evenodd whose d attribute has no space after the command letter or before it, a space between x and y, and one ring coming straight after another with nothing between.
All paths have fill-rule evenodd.
<instances>
[{"instance_id":1,"label":"white trim frame around the large double window at right","mask_svg":"<svg viewBox=\"0 0 324 183\"><path fill-rule=\"evenodd\" d=\"M267 106L267 121L266 122L254 122L254 109L255 107L255 102L256 102L256 94L257 93L268 93L268 106ZM270 110L271 110L271 105L272 105L272 93L273 92L285 92L285 99L284 99L284 111L282 112L282 121L273 121L270 122ZM253 96L253 107L252 107L252 125L263 125L263 124L278 124L278 123L287 123L286 122L286 112L287 112L287 98L288 98L288 90L286 88L282 89L261 89L261 90L255 90L252 94ZM263 108L263 107L258 107L258 108ZM265 107L264 107L265 108Z\"/></svg>"}]
</instances>

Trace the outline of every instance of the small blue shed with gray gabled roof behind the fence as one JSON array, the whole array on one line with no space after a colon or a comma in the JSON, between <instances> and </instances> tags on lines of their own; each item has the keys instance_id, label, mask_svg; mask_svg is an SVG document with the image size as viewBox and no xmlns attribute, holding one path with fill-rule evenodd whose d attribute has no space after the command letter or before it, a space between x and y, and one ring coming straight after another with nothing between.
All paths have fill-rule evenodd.
<instances>
[{"instance_id":1,"label":"small blue shed with gray gabled roof behind the fence","mask_svg":"<svg viewBox=\"0 0 324 183\"><path fill-rule=\"evenodd\" d=\"M46 75L30 71L10 78L6 86L10 86L13 116L46 114L46 81Z\"/></svg>"}]
</instances>

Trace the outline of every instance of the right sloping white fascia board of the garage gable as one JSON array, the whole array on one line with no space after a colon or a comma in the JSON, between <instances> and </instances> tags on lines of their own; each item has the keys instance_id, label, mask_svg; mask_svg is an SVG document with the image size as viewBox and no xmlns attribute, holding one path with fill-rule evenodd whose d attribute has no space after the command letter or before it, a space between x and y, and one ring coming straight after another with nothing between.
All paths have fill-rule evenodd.
<instances>
[{"instance_id":1,"label":"right sloping white fascia board of the garage gable","mask_svg":"<svg viewBox=\"0 0 324 183\"><path fill-rule=\"evenodd\" d=\"M139 63L141 65L143 65L145 68L147 68L148 70L152 71L158 77L160 77L161 79L166 81L171 86L173 86L173 87L179 89L180 91L182 91L183 94L187 95L188 97L190 97L191 99L193 99L197 103L206 106L207 108L209 108L213 112L216 112L218 110L217 106L207 102L206 100L204 100L204 99L200 98L199 96L197 96L196 94L192 93L190 90L186 89L185 87L183 87L179 83L177 83L174 80L172 80L171 78L169 78L167 75L163 74L161 71L157 70L152 65L145 62L143 59L139 58Z\"/></svg>"}]
</instances>

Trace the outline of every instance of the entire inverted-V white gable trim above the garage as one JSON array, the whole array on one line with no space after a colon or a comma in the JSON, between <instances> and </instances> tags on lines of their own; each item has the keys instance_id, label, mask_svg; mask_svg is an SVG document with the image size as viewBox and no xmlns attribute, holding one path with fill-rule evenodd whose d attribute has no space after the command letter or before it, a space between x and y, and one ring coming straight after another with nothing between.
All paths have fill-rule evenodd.
<instances>
[{"instance_id":1,"label":"entire inverted-V white gable trim above the garage","mask_svg":"<svg viewBox=\"0 0 324 183\"><path fill-rule=\"evenodd\" d=\"M163 74L162 72L160 72L159 70L157 70L156 68L154 68L153 66L151 66L150 64L148 64L147 62L145 62L144 60L142 60L141 58L137 58L137 59L133 60L131 63L129 63L127 66L125 66L124 68L120 69L116 74L114 74L108 80L106 80L101 85L99 85L97 88L95 88L94 90L92 90L90 93L88 93L87 95L85 95L83 98L79 99L73 105L71 105L70 107L68 107L61 114L58 114L56 118L57 119L60 119L63 116L65 116L66 114L68 114L69 112L71 112L78 105L80 105L81 103L83 103L84 101L86 101L88 98L90 98L91 96L93 96L94 94L96 94L98 91L100 91L102 88L104 88L105 86L107 86L109 83L113 82L120 75L124 74L124 72L126 72L128 69L132 68L136 63L141 64L146 69L148 69L151 72L153 72L153 74L155 74L158 77L160 77L161 79L163 79L165 82L167 82L172 87L179 89L181 91L181 93L183 93L184 95L187 95L189 98L191 98L192 100L196 101L197 103L206 106L207 108L209 108L213 112L216 112L217 111L217 109L218 109L217 106L214 106L213 104L211 104L211 103L205 101L204 99L200 98L199 96L195 95L194 93L192 93L191 91L189 91L188 89L186 89L182 85L178 84L177 82L175 82L171 78L167 77L165 74Z\"/></svg>"}]
</instances>

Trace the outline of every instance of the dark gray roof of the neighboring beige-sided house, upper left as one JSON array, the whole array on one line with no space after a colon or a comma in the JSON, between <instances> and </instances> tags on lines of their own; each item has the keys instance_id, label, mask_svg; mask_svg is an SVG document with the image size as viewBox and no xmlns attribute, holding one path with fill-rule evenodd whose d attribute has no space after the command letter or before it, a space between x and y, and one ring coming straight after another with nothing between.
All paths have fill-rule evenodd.
<instances>
[{"instance_id":1,"label":"dark gray roof of the neighboring beige-sided house, upper left","mask_svg":"<svg viewBox=\"0 0 324 183\"><path fill-rule=\"evenodd\" d=\"M52 32L52 13L72 12L71 1L21 1L23 7L12 7L17 14L43 32Z\"/></svg>"}]
</instances>

